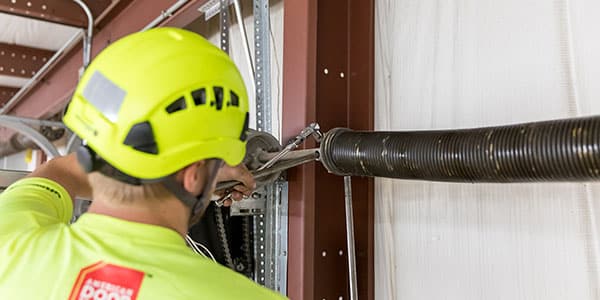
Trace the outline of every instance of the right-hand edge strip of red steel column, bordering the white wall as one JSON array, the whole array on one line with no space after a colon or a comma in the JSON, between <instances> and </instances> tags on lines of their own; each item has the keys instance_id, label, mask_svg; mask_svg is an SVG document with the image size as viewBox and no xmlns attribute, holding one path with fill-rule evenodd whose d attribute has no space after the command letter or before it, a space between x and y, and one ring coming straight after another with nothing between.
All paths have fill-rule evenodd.
<instances>
[{"instance_id":1,"label":"right-hand edge strip of red steel column, bordering the white wall","mask_svg":"<svg viewBox=\"0 0 600 300\"><path fill-rule=\"evenodd\" d=\"M348 4L348 126L373 130L375 119L375 0ZM358 298L375 299L375 199L372 178L352 178Z\"/></svg>"}]
</instances>

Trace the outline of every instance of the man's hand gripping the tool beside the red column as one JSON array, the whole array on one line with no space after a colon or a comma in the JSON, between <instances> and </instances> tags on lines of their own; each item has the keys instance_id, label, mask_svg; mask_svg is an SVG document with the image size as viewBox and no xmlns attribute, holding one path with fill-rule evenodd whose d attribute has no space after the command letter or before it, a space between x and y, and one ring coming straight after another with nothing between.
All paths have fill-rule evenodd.
<instances>
[{"instance_id":1,"label":"man's hand gripping the tool beside the red column","mask_svg":"<svg viewBox=\"0 0 600 300\"><path fill-rule=\"evenodd\" d=\"M254 177L252 177L252 174L250 171L248 171L248 168L246 168L244 164L239 164L235 167L224 165L219 170L219 174L217 174L217 183L232 180L239 181L241 184L234 186L233 190L215 192L215 194L221 197L225 196L226 192L231 192L230 198L223 202L224 206L230 206L232 199L235 201L240 201L244 197L250 196L254 189L256 189L256 181L254 181Z\"/></svg>"}]
</instances>

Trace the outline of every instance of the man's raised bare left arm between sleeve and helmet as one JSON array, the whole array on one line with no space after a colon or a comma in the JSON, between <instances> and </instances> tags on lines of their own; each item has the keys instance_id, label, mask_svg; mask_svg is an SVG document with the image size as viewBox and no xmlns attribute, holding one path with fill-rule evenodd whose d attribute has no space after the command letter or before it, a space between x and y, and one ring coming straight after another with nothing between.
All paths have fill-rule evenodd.
<instances>
[{"instance_id":1,"label":"man's raised bare left arm between sleeve and helmet","mask_svg":"<svg viewBox=\"0 0 600 300\"><path fill-rule=\"evenodd\" d=\"M27 177L42 177L55 181L67 190L71 199L92 198L87 173L79 165L75 153L54 158L39 166Z\"/></svg>"}]
</instances>

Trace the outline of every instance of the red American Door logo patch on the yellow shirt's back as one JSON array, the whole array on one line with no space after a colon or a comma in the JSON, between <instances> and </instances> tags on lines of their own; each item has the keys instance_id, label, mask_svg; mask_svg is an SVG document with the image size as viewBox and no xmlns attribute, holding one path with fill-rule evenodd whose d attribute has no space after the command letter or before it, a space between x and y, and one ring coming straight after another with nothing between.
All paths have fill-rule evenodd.
<instances>
[{"instance_id":1,"label":"red American Door logo patch on the yellow shirt's back","mask_svg":"<svg viewBox=\"0 0 600 300\"><path fill-rule=\"evenodd\" d=\"M144 272L100 261L79 271L69 300L135 300L142 279Z\"/></svg>"}]
</instances>

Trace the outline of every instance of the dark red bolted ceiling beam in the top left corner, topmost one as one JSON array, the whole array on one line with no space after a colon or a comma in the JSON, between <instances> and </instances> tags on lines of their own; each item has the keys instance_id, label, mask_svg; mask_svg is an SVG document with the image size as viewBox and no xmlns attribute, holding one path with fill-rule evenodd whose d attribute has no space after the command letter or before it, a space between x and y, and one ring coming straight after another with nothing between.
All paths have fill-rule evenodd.
<instances>
[{"instance_id":1,"label":"dark red bolted ceiling beam in the top left corner, topmost one","mask_svg":"<svg viewBox=\"0 0 600 300\"><path fill-rule=\"evenodd\" d=\"M98 17L112 0L85 0L92 15ZM86 27L87 17L75 2L65 0L3 0L0 12L68 26Z\"/></svg>"}]
</instances>

